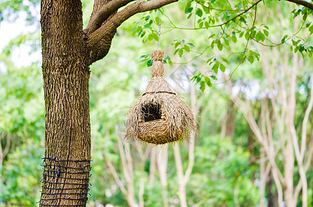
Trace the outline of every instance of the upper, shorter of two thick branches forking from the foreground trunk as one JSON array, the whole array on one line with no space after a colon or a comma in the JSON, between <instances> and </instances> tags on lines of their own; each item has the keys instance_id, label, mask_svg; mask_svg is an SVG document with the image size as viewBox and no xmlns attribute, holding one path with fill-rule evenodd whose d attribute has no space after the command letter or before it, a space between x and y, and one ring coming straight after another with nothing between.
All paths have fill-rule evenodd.
<instances>
[{"instance_id":1,"label":"upper, shorter of two thick branches forking from the foreground trunk","mask_svg":"<svg viewBox=\"0 0 313 207\"><path fill-rule=\"evenodd\" d=\"M134 0L117 0L110 1L103 8L100 8L95 14L91 16L88 26L86 27L86 33L95 32L99 27L102 26L102 23L108 19L114 12L117 12L119 8L125 6L127 3Z\"/></svg>"}]
</instances>

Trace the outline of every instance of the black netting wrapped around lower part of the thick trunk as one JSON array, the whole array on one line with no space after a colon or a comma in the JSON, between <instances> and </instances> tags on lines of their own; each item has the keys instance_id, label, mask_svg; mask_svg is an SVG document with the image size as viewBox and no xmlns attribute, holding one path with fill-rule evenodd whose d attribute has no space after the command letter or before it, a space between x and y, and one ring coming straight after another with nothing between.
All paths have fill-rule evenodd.
<instances>
[{"instance_id":1,"label":"black netting wrapped around lower part of the thick trunk","mask_svg":"<svg viewBox=\"0 0 313 207\"><path fill-rule=\"evenodd\" d=\"M57 157L44 157L41 166L44 170L41 179L40 206L86 206L90 191L92 160L57 160ZM79 176L77 177L77 174ZM75 177L73 177L75 175ZM49 177L49 179L48 179ZM48 181L49 180L49 181ZM57 186L57 188L53 187ZM73 190L76 192L73 193ZM56 198L50 198L58 195ZM71 205L61 205L60 200L68 200ZM74 204L75 203L75 204Z\"/></svg>"}]
</instances>

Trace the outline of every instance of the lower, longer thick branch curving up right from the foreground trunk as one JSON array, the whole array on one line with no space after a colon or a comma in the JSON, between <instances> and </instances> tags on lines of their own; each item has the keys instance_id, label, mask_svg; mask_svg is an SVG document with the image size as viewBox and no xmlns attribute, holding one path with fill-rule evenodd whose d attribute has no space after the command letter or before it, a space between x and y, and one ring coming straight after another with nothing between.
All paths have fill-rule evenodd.
<instances>
[{"instance_id":1,"label":"lower, longer thick branch curving up right from the foreground trunk","mask_svg":"<svg viewBox=\"0 0 313 207\"><path fill-rule=\"evenodd\" d=\"M169 3L178 0L153 0L153 1L136 1L127 6L120 12L117 12L111 19L108 19L100 28L90 34L88 39L88 51L90 51L90 64L102 59L108 54L111 47L111 41L116 29L129 17L140 12L146 12L161 8Z\"/></svg>"}]
</instances>

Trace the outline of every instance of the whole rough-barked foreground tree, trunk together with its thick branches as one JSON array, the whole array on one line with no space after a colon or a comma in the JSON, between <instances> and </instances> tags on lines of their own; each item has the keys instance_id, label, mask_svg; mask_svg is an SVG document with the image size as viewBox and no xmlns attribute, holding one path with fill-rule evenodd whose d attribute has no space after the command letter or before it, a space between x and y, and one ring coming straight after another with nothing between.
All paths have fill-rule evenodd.
<instances>
[{"instance_id":1,"label":"whole rough-barked foreground tree, trunk together with its thick branches","mask_svg":"<svg viewBox=\"0 0 313 207\"><path fill-rule=\"evenodd\" d=\"M45 157L50 159L45 159L40 206L86 206L87 198L82 197L88 193L91 159L89 66L106 56L126 19L176 1L95 0L83 30L81 1L41 0ZM126 8L118 11L122 6Z\"/></svg>"}]
</instances>

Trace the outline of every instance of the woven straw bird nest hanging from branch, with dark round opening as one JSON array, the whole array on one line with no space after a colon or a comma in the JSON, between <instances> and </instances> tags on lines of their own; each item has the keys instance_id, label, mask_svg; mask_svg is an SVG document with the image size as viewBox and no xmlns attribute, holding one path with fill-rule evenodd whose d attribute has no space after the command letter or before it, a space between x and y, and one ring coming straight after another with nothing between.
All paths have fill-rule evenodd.
<instances>
[{"instance_id":1,"label":"woven straw bird nest hanging from branch, with dark round opening","mask_svg":"<svg viewBox=\"0 0 313 207\"><path fill-rule=\"evenodd\" d=\"M196 130L190 107L164 80L163 56L161 50L152 53L151 80L146 92L129 110L126 139L166 144L180 141Z\"/></svg>"}]
</instances>

